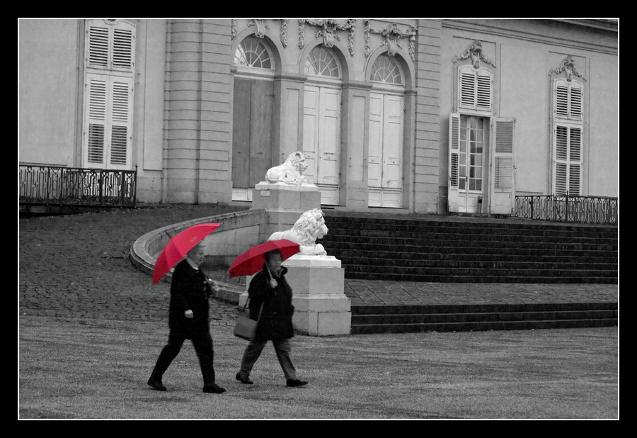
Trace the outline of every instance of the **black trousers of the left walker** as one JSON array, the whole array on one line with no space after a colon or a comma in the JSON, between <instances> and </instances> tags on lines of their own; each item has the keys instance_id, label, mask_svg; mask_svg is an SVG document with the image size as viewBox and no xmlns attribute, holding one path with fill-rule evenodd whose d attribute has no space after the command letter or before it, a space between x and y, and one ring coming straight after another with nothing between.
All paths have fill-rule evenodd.
<instances>
[{"instance_id":1,"label":"black trousers of the left walker","mask_svg":"<svg viewBox=\"0 0 637 438\"><path fill-rule=\"evenodd\" d=\"M161 353L159 353L159 358L157 358L157 363L155 364L151 378L161 382L161 376L163 376L168 366L171 365L172 361L179 354L185 339L186 336L183 333L171 331L170 335L168 335L168 344L166 344L166 346L161 349ZM193 347L195 347L195 352L199 358L199 366L201 367L204 385L212 385L212 383L214 383L214 349L212 347L210 332L196 333L190 337L190 341L193 342Z\"/></svg>"}]
</instances>

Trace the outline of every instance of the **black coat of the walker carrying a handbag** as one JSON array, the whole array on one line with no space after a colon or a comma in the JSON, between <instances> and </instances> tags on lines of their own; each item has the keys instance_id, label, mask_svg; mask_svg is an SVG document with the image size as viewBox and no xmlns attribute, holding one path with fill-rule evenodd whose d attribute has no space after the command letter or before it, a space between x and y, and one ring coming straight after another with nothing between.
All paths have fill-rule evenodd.
<instances>
[{"instance_id":1,"label":"black coat of the walker carrying a handbag","mask_svg":"<svg viewBox=\"0 0 637 438\"><path fill-rule=\"evenodd\" d=\"M250 298L250 318L258 318L261 303L263 312L259 320L256 332L256 341L267 341L277 339L289 339L294 336L292 327L292 315L294 306L292 305L292 288L289 287L285 274L287 268L282 266L280 276L272 273L277 281L277 287L270 286L270 274L263 266L263 270L258 272L250 281L248 287L248 297Z\"/></svg>"}]
</instances>

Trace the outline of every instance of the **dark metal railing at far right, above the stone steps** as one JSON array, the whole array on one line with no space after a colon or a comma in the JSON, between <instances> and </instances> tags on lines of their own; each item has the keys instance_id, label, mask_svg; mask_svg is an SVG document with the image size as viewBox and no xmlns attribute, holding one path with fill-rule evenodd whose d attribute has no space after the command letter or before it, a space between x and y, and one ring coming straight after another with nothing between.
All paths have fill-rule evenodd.
<instances>
[{"instance_id":1,"label":"dark metal railing at far right, above the stone steps","mask_svg":"<svg viewBox=\"0 0 637 438\"><path fill-rule=\"evenodd\" d=\"M617 198L599 196L515 196L515 218L617 225Z\"/></svg>"}]
</instances>

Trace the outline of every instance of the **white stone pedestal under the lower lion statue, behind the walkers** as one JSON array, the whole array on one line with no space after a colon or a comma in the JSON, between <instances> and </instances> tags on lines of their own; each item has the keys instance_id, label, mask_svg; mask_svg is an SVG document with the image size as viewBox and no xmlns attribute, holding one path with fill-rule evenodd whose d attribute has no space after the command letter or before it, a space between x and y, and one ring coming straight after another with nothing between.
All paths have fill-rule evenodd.
<instances>
[{"instance_id":1,"label":"white stone pedestal under the lower lion statue, behind the walkers","mask_svg":"<svg viewBox=\"0 0 637 438\"><path fill-rule=\"evenodd\" d=\"M352 325L350 298L345 296L345 269L333 256L294 255L283 262L292 287L294 330L309 336L349 335ZM252 277L246 279L250 284ZM243 307L248 293L241 294Z\"/></svg>"}]
</instances>

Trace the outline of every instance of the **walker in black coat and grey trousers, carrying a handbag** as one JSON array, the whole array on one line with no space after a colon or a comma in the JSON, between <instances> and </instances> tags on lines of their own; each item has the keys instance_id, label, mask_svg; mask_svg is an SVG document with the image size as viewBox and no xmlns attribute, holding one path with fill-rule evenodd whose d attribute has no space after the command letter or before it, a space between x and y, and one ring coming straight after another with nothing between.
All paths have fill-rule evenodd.
<instances>
[{"instance_id":1,"label":"walker in black coat and grey trousers, carrying a handbag","mask_svg":"<svg viewBox=\"0 0 637 438\"><path fill-rule=\"evenodd\" d=\"M250 372L263 348L272 341L277 359L285 375L287 386L304 386L306 381L297 379L296 369L290 359L289 339L294 337L292 327L292 288L285 280L287 268L281 266L282 256L279 250L265 254L263 270L258 272L248 286L250 300L250 318L258 320L255 339L248 343L241 359L241 369L236 380L251 385ZM261 309L263 305L263 310ZM260 315L260 316L259 316Z\"/></svg>"}]
</instances>

